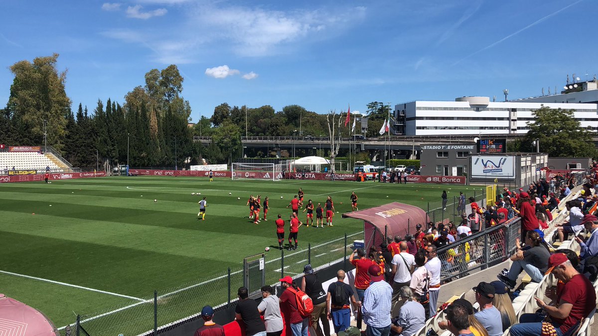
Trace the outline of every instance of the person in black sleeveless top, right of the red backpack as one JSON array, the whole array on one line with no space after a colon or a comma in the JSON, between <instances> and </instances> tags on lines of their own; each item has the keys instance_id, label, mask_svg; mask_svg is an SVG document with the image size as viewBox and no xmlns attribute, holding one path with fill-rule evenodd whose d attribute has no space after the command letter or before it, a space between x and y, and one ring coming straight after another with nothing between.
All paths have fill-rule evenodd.
<instances>
[{"instance_id":1,"label":"person in black sleeveless top, right of the red backpack","mask_svg":"<svg viewBox=\"0 0 598 336\"><path fill-rule=\"evenodd\" d=\"M312 327L316 331L317 336L330 336L330 323L328 323L326 310L326 292L322 288L322 281L318 279L318 273L313 271L310 264L303 267L303 273L305 275L301 280L301 291L305 292L312 299ZM324 333L322 333L319 321L322 321Z\"/></svg>"}]
</instances>

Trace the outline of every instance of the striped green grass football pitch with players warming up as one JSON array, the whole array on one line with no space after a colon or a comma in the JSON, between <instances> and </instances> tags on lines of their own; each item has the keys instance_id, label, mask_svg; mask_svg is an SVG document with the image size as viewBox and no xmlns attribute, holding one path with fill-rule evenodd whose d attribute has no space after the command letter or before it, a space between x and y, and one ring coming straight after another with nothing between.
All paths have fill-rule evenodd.
<instances>
[{"instance_id":1,"label":"striped green grass football pitch with players warming up","mask_svg":"<svg viewBox=\"0 0 598 336\"><path fill-rule=\"evenodd\" d=\"M351 210L351 191L359 197L359 209L390 201L426 209L428 202L431 208L440 206L443 190L449 191L449 204L461 190L468 197L474 189L478 195L482 190L343 181L219 178L209 182L207 178L170 176L2 184L0 292L43 311L56 326L64 326L74 322L74 313L93 316L139 302L136 298L152 298L154 289L162 294L224 274L227 267L238 269L243 258L264 252L266 246L271 247L266 258L277 258L280 251L273 248L277 247L274 219L282 213L288 224L291 211L285 207L299 187L306 193L305 203L310 198L316 204L324 203L330 195L339 212L334 227L301 227L300 249L363 229L361 221L340 216ZM269 221L249 222L245 204L250 194L270 197ZM200 221L197 202L204 196L209 207L206 220ZM300 220L305 220L304 213ZM275 274L269 274L269 279L276 279L279 271L280 267L272 271ZM219 303L222 301L197 305ZM160 323L187 316L177 316L184 313L164 314ZM148 316L149 321L151 318Z\"/></svg>"}]
</instances>

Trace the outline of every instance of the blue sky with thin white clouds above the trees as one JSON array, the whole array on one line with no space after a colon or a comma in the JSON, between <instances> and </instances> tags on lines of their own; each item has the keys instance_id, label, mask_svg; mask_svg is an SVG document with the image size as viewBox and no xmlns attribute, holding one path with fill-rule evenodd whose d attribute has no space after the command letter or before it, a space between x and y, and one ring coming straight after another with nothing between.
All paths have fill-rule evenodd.
<instances>
[{"instance_id":1,"label":"blue sky with thin white clouds above the trees","mask_svg":"<svg viewBox=\"0 0 598 336\"><path fill-rule=\"evenodd\" d=\"M194 121L215 106L365 111L459 96L509 99L598 73L598 2L3 1L0 105L19 60L59 53L73 102L118 102L176 64Z\"/></svg>"}]
</instances>

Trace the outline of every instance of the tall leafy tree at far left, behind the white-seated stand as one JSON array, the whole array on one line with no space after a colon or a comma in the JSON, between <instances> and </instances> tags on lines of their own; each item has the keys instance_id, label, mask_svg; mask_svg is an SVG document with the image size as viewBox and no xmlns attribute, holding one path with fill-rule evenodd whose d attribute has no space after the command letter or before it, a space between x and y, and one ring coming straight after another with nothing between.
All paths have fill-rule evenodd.
<instances>
[{"instance_id":1,"label":"tall leafy tree at far left, behind the white-seated stand","mask_svg":"<svg viewBox=\"0 0 598 336\"><path fill-rule=\"evenodd\" d=\"M30 143L42 143L44 120L47 121L48 144L62 149L66 135L71 100L66 96L66 71L56 66L58 54L36 57L33 63L22 60L10 66L14 74L8 99L8 113L20 125L19 132Z\"/></svg>"}]
</instances>

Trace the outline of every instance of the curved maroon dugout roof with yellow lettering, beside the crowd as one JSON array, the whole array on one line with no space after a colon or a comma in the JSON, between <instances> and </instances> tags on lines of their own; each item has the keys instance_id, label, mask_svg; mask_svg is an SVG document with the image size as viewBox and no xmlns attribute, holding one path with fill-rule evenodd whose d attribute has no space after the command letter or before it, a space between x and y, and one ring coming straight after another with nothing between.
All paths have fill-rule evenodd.
<instances>
[{"instance_id":1,"label":"curved maroon dugout roof with yellow lettering, beside the crowd","mask_svg":"<svg viewBox=\"0 0 598 336\"><path fill-rule=\"evenodd\" d=\"M405 203L388 203L381 206L355 212L343 213L343 218L362 219L364 221L365 247L380 246L387 236L413 234L415 226L426 227L428 215L423 209Z\"/></svg>"}]
</instances>

